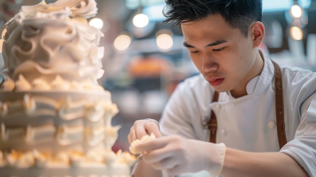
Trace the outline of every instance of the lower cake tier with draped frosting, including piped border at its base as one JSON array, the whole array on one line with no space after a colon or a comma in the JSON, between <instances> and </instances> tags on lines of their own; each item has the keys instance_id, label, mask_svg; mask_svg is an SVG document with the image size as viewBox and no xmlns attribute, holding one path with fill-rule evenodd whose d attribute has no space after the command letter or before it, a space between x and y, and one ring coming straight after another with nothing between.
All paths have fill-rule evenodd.
<instances>
[{"instance_id":1,"label":"lower cake tier with draped frosting, including piped border at its base","mask_svg":"<svg viewBox=\"0 0 316 177\"><path fill-rule=\"evenodd\" d=\"M117 112L106 90L0 90L1 176L128 176L134 156L111 149Z\"/></svg>"}]
</instances>

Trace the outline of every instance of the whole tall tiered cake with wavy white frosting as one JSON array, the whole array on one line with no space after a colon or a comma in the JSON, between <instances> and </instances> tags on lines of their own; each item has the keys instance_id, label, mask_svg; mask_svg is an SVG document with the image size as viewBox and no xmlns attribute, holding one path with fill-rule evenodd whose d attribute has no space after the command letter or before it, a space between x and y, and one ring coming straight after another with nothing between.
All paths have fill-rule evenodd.
<instances>
[{"instance_id":1,"label":"whole tall tiered cake with wavy white frosting","mask_svg":"<svg viewBox=\"0 0 316 177\"><path fill-rule=\"evenodd\" d=\"M23 6L5 26L0 78L2 177L129 176L103 75L94 0Z\"/></svg>"}]
</instances>

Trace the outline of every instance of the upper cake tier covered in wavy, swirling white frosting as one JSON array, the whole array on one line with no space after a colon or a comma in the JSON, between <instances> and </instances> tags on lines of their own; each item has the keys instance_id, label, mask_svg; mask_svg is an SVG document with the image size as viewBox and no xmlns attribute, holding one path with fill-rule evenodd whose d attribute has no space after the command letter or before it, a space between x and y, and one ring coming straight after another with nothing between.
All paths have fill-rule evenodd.
<instances>
[{"instance_id":1,"label":"upper cake tier covered in wavy, swirling white frosting","mask_svg":"<svg viewBox=\"0 0 316 177\"><path fill-rule=\"evenodd\" d=\"M59 75L97 85L99 73L103 73L100 60L104 48L98 47L103 34L78 22L95 16L96 10L93 0L64 0L48 5L43 1L23 6L8 24L5 35L3 54L8 75L15 80L23 74L30 83L38 75L46 82Z\"/></svg>"}]
</instances>

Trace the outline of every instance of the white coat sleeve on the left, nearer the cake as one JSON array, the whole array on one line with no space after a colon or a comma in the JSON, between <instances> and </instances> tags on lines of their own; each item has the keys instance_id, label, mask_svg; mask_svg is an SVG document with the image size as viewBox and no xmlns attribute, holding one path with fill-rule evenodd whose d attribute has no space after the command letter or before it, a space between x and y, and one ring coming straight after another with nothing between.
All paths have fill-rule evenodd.
<instances>
[{"instance_id":1,"label":"white coat sleeve on the left, nearer the cake","mask_svg":"<svg viewBox=\"0 0 316 177\"><path fill-rule=\"evenodd\" d=\"M214 90L202 75L193 76L178 84L160 120L162 134L208 140L208 130L203 128L202 123L210 114L212 92Z\"/></svg>"}]
</instances>

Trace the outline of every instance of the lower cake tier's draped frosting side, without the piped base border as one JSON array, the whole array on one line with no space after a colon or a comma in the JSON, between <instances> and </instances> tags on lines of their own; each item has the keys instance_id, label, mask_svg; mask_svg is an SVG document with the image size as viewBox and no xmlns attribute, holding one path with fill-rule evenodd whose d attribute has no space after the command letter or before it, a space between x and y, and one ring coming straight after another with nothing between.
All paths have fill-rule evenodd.
<instances>
[{"instance_id":1,"label":"lower cake tier's draped frosting side, without the piped base border","mask_svg":"<svg viewBox=\"0 0 316 177\"><path fill-rule=\"evenodd\" d=\"M0 150L88 152L112 148L119 126L111 93L0 91Z\"/></svg>"}]
</instances>

